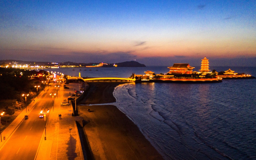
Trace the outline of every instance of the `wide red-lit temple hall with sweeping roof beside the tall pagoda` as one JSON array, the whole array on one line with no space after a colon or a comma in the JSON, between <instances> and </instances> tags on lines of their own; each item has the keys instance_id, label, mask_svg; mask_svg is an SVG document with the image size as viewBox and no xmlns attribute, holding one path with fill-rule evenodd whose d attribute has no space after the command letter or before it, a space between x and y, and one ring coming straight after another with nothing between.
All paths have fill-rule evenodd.
<instances>
[{"instance_id":1,"label":"wide red-lit temple hall with sweeping roof beside the tall pagoda","mask_svg":"<svg viewBox=\"0 0 256 160\"><path fill-rule=\"evenodd\" d=\"M191 67L189 64L173 64L173 66L168 67L170 74L192 74L194 67Z\"/></svg>"}]
</instances>

